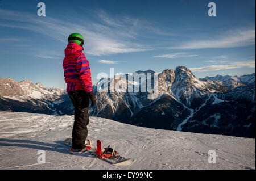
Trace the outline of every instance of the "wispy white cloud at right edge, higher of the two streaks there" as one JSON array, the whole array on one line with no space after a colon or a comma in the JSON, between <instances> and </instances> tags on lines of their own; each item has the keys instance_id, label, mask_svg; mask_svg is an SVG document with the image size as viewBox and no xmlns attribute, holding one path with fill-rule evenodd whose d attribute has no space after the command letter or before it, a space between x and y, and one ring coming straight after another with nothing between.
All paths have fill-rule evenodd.
<instances>
[{"instance_id":1,"label":"wispy white cloud at right edge, higher of the two streaks there","mask_svg":"<svg viewBox=\"0 0 256 181\"><path fill-rule=\"evenodd\" d=\"M221 37L209 40L188 41L171 49L203 49L203 48L232 48L255 45L255 30L237 30L227 32Z\"/></svg>"}]
</instances>

